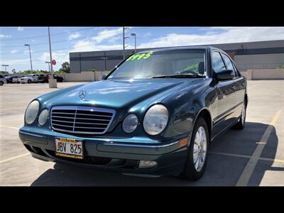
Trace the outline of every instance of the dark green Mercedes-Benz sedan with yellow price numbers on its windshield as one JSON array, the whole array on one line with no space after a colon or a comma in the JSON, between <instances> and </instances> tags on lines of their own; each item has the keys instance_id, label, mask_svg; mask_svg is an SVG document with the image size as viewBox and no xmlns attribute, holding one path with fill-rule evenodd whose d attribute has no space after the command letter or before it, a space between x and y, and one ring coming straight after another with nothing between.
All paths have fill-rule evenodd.
<instances>
[{"instance_id":1,"label":"dark green Mercedes-Benz sedan with yellow price numbers on its windshield","mask_svg":"<svg viewBox=\"0 0 284 213\"><path fill-rule=\"evenodd\" d=\"M244 129L247 104L246 79L224 51L160 48L130 55L101 81L33 99L19 136L40 160L197 180L209 143Z\"/></svg>"}]
</instances>

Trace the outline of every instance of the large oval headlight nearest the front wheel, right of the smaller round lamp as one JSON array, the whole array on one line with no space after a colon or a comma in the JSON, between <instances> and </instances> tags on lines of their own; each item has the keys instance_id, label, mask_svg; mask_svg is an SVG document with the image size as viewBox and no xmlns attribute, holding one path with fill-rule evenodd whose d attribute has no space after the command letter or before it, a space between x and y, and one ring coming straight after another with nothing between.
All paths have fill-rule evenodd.
<instances>
[{"instance_id":1,"label":"large oval headlight nearest the front wheel, right of the smaller round lamp","mask_svg":"<svg viewBox=\"0 0 284 213\"><path fill-rule=\"evenodd\" d=\"M146 112L143 120L143 127L146 133L155 136L165 129L167 123L168 109L161 104L156 104Z\"/></svg>"}]
</instances>

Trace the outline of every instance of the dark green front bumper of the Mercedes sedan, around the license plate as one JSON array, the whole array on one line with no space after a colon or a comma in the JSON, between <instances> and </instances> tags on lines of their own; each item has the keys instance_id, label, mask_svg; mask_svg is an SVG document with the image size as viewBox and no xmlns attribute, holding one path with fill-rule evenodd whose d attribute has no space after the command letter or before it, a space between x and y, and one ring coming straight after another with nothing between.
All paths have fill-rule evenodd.
<instances>
[{"instance_id":1,"label":"dark green front bumper of the Mercedes sedan, around the license plate","mask_svg":"<svg viewBox=\"0 0 284 213\"><path fill-rule=\"evenodd\" d=\"M34 158L142 176L179 175L187 158L187 146L178 140L146 141L145 138L82 138L52 130L23 126L19 136ZM84 159L55 155L55 137L75 138L84 143ZM184 137L184 136L183 136ZM155 168L138 168L139 160L155 160Z\"/></svg>"}]
</instances>

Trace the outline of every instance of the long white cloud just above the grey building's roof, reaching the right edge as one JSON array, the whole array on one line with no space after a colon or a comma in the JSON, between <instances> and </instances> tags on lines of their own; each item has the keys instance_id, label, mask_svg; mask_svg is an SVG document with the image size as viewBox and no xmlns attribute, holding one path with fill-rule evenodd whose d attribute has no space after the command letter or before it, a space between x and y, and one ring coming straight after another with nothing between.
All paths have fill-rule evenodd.
<instances>
[{"instance_id":1,"label":"long white cloud just above the grey building's roof, reaching the right edge","mask_svg":"<svg viewBox=\"0 0 284 213\"><path fill-rule=\"evenodd\" d=\"M204 31L204 28L202 29ZM170 33L141 43L138 48L159 48L182 45L207 45L284 39L283 27L214 27L204 34Z\"/></svg>"}]
</instances>

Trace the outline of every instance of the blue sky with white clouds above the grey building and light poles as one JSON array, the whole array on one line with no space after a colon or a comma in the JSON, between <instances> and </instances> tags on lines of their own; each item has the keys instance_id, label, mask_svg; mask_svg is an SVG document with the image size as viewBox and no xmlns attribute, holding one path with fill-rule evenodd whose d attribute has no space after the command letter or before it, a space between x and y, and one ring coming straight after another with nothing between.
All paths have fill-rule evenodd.
<instances>
[{"instance_id":1,"label":"blue sky with white clouds above the grey building and light poles","mask_svg":"<svg viewBox=\"0 0 284 213\"><path fill-rule=\"evenodd\" d=\"M136 33L137 48L284 40L284 27L129 27L126 49L134 48L131 33ZM69 62L70 52L122 49L122 27L50 27L50 38L54 70ZM31 46L33 70L48 70L47 27L0 27L0 64L9 65L9 72L30 70L24 44Z\"/></svg>"}]
</instances>

